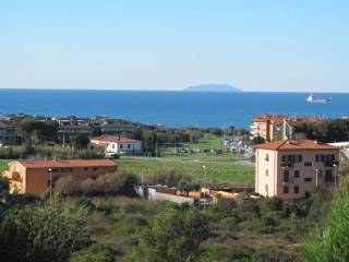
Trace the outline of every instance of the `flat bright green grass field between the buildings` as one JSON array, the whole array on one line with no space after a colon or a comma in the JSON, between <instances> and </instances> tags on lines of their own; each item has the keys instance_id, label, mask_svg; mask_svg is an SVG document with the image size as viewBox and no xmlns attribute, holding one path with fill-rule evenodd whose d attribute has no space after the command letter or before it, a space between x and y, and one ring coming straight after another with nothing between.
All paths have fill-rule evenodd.
<instances>
[{"instance_id":1,"label":"flat bright green grass field between the buildings","mask_svg":"<svg viewBox=\"0 0 349 262\"><path fill-rule=\"evenodd\" d=\"M191 148L216 148L222 150L220 138L206 135L198 143L185 143L182 147ZM173 154L173 147L166 150L168 154L165 157L122 157L118 159L119 170L129 171L141 176L160 174L174 170L176 175L190 176L196 182L202 182L204 178L205 166L206 182L214 183L244 183L252 184L254 178L254 167L239 165L234 162L246 160L244 156L231 153L222 153L219 155L213 153L196 154ZM0 160L0 171L4 170L11 160Z\"/></svg>"}]
</instances>

